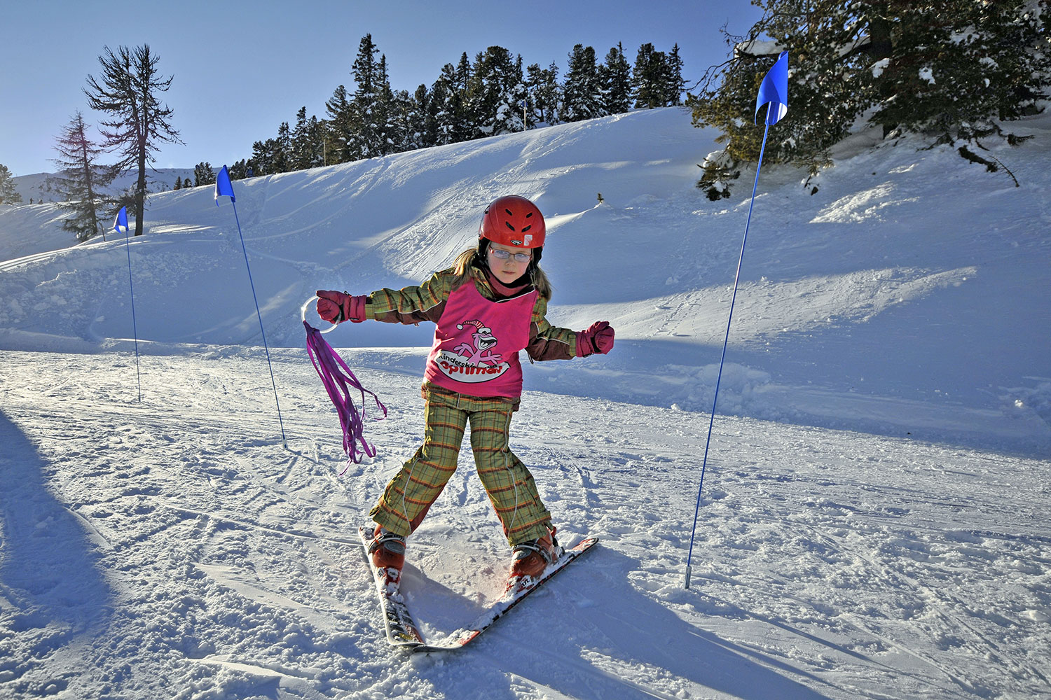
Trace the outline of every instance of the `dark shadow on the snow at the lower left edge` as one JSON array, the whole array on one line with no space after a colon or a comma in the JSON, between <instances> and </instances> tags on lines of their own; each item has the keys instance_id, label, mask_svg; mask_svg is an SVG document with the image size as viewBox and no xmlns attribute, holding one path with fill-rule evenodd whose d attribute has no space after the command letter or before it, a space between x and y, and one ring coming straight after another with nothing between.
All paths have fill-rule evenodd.
<instances>
[{"instance_id":1,"label":"dark shadow on the snow at the lower left edge","mask_svg":"<svg viewBox=\"0 0 1051 700\"><path fill-rule=\"evenodd\" d=\"M84 524L50 493L46 463L3 412L0 445L0 630L20 657L0 688L36 694L46 682L54 693L69 679L47 672L46 658L107 623L111 591Z\"/></svg>"}]
</instances>

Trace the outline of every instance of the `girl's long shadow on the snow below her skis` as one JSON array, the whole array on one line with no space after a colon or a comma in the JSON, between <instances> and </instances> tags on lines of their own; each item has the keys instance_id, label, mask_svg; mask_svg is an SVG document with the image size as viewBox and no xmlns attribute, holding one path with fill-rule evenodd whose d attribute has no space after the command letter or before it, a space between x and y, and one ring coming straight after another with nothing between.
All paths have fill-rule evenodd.
<instances>
[{"instance_id":1,"label":"girl's long shadow on the snow below her skis","mask_svg":"<svg viewBox=\"0 0 1051 700\"><path fill-rule=\"evenodd\" d=\"M601 544L585 556L471 646L432 654L438 662L420 667L421 675L446 698L476 697L481 688L498 700L522 693L618 700L826 697L788 677L805 672L700 630L638 591L627 578L637 560Z\"/></svg>"}]
</instances>

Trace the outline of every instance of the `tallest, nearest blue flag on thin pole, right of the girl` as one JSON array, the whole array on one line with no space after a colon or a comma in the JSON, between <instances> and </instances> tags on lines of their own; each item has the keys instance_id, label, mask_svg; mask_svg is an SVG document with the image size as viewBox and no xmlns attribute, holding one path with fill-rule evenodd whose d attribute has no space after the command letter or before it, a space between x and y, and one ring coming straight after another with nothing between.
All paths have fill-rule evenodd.
<instances>
[{"instance_id":1,"label":"tallest, nearest blue flag on thin pole, right of the girl","mask_svg":"<svg viewBox=\"0 0 1051 700\"><path fill-rule=\"evenodd\" d=\"M756 165L756 179L751 185L751 200L748 203L748 218L744 224L744 237L741 239L741 255L737 260L737 275L734 277L734 294L729 301L729 316L726 319L726 336L723 338L722 357L719 359L719 375L716 378L715 397L712 399L712 417L708 420L708 437L704 443L704 458L701 462L701 481L697 486L697 505L694 508L694 527L689 533L689 552L686 554L686 573L684 588L689 588L689 578L693 572L692 560L694 556L694 540L697 535L697 518L701 512L701 492L704 488L704 472L708 466L708 449L712 446L712 428L716 422L716 403L719 401L719 384L722 382L723 363L726 361L726 347L729 344L729 326L734 320L734 304L737 301L738 283L741 280L741 267L744 262L744 247L748 241L748 227L751 226L751 211L756 205L756 190L759 187L759 172L763 167L763 153L766 151L766 135L770 131L770 125L777 124L788 111L788 51L782 51L777 63L763 78L759 88L759 96L756 98L756 112L763 105L768 105L766 111L766 126L763 129L763 143L759 148L759 163Z\"/></svg>"}]
</instances>

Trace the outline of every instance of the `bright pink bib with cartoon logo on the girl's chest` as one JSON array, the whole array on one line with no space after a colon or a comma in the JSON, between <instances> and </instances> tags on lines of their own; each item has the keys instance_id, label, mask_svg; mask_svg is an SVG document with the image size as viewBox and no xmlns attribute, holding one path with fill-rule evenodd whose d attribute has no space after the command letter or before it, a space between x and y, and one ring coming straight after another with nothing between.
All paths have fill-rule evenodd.
<instances>
[{"instance_id":1,"label":"bright pink bib with cartoon logo on the girl's chest","mask_svg":"<svg viewBox=\"0 0 1051 700\"><path fill-rule=\"evenodd\" d=\"M502 301L481 296L473 281L449 295L427 359L427 381L476 397L522 393L518 351L529 344L537 291Z\"/></svg>"}]
</instances>

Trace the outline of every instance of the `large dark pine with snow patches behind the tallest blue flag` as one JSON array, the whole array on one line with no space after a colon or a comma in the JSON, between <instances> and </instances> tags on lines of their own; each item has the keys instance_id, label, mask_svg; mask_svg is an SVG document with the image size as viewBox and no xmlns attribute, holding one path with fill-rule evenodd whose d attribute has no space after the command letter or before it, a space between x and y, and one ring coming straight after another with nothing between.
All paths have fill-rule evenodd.
<instances>
[{"instance_id":1,"label":"large dark pine with snow patches behind the tallest blue flag","mask_svg":"<svg viewBox=\"0 0 1051 700\"><path fill-rule=\"evenodd\" d=\"M980 140L988 136L1019 143L1003 121L1038 109L1037 101L1047 97L1047 0L757 4L763 17L747 37L727 35L731 59L709 69L700 94L687 100L695 125L723 132L719 141L725 149L705 161L698 183L709 197L728 195L727 183L740 164L759 155L756 93L781 50L790 57L791 109L778 124L778 137L767 142L764 158L811 173L829 163L831 146L865 112L884 137L924 134L932 145L954 145L964 157L995 170L992 156L972 147L981 150Z\"/></svg>"}]
</instances>

